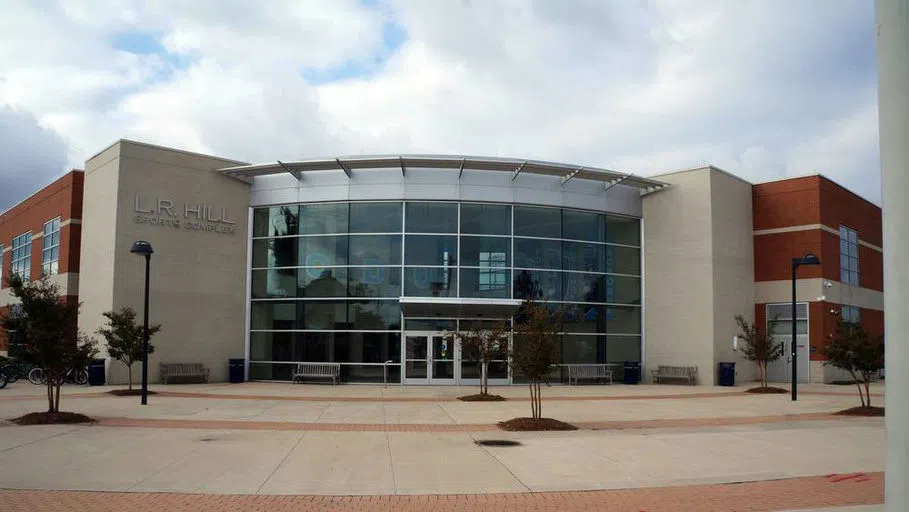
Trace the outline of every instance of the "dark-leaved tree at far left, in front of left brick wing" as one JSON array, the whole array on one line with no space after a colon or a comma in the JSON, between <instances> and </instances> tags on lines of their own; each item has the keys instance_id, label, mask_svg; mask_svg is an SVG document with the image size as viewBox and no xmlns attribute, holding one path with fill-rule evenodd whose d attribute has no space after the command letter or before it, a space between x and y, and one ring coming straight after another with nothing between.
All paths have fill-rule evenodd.
<instances>
[{"instance_id":1,"label":"dark-leaved tree at far left, in front of left brick wing","mask_svg":"<svg viewBox=\"0 0 909 512\"><path fill-rule=\"evenodd\" d=\"M22 359L44 369L47 412L58 413L66 373L88 365L97 353L95 341L78 332L80 304L61 297L56 284L46 278L26 282L16 274L8 284L21 305L16 314L0 318L0 325L16 331Z\"/></svg>"}]
</instances>

